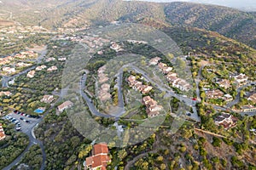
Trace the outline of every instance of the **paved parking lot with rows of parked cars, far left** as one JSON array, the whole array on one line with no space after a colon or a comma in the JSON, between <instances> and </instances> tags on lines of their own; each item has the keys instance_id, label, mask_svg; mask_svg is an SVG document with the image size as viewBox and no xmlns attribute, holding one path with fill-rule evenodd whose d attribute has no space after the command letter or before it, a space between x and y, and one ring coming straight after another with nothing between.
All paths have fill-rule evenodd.
<instances>
[{"instance_id":1,"label":"paved parking lot with rows of parked cars, far left","mask_svg":"<svg viewBox=\"0 0 256 170\"><path fill-rule=\"evenodd\" d=\"M9 113L9 115L4 118L9 119L10 122L15 124L15 129L17 131L21 131L23 133L30 133L32 127L34 127L38 123L38 118L32 118L31 116L27 116L25 114L18 114L18 112Z\"/></svg>"}]
</instances>

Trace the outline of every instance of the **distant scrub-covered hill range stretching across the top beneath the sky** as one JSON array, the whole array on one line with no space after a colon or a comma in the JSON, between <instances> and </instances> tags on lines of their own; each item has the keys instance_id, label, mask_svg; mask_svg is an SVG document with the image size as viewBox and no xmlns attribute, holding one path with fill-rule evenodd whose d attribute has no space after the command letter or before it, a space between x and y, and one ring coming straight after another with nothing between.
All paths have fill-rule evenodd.
<instances>
[{"instance_id":1,"label":"distant scrub-covered hill range stretching across the top beneath the sky","mask_svg":"<svg viewBox=\"0 0 256 170\"><path fill-rule=\"evenodd\" d=\"M3 0L0 20L48 28L98 25L121 20L159 26L217 31L256 48L256 13L198 3L148 3L119 0ZM12 12L12 18L10 18Z\"/></svg>"}]
</instances>

